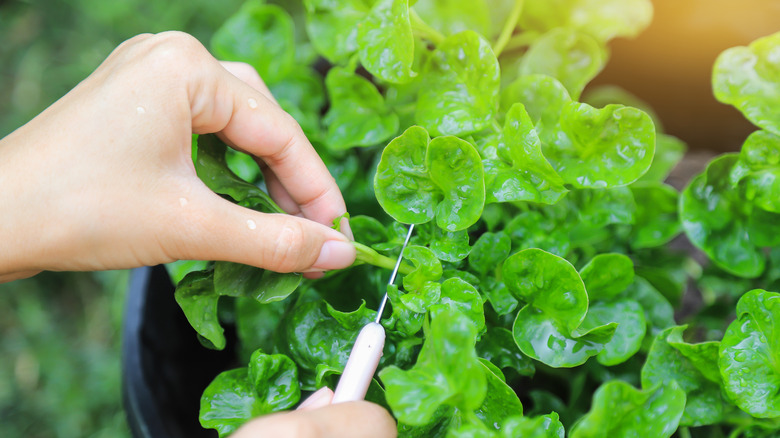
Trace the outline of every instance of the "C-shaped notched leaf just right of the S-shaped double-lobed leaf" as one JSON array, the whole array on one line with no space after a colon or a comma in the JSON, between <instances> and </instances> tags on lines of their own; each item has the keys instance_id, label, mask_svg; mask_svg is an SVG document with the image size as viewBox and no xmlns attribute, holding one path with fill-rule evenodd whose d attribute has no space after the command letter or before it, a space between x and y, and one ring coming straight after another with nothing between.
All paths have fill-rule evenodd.
<instances>
[{"instance_id":1,"label":"C-shaped notched leaf just right of the S-shaped double-lobed leaf","mask_svg":"<svg viewBox=\"0 0 780 438\"><path fill-rule=\"evenodd\" d=\"M600 364L613 366L628 360L642 347L647 323L642 306L634 300L617 299L591 303L585 320L577 330L617 323L615 334L596 356Z\"/></svg>"}]
</instances>

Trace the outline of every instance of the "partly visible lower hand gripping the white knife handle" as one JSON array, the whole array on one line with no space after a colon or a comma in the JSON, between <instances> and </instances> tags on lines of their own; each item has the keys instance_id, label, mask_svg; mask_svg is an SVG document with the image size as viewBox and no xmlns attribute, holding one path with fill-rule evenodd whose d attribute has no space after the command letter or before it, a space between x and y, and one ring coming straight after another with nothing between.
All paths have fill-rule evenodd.
<instances>
[{"instance_id":1,"label":"partly visible lower hand gripping the white knife handle","mask_svg":"<svg viewBox=\"0 0 780 438\"><path fill-rule=\"evenodd\" d=\"M230 438L395 438L386 410L365 401L330 404L333 391L322 388L290 412L256 418Z\"/></svg>"}]
</instances>

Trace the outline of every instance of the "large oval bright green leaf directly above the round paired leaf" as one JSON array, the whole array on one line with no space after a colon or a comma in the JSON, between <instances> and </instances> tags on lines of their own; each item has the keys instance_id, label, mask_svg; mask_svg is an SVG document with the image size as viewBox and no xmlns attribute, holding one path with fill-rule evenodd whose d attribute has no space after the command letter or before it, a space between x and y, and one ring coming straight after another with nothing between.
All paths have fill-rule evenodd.
<instances>
[{"instance_id":1,"label":"large oval bright green leaf directly above the round paired leaf","mask_svg":"<svg viewBox=\"0 0 780 438\"><path fill-rule=\"evenodd\" d=\"M484 129L497 106L499 67L490 44L473 31L438 45L424 67L417 99L417 123L433 135L461 135Z\"/></svg>"}]
</instances>

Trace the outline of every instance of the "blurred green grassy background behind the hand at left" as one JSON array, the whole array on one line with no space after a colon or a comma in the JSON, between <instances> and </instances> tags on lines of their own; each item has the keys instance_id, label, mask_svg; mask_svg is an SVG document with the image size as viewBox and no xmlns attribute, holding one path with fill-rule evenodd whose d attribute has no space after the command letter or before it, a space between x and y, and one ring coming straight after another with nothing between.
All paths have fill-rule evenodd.
<instances>
[{"instance_id":1,"label":"blurred green grassy background behind the hand at left","mask_svg":"<svg viewBox=\"0 0 780 438\"><path fill-rule=\"evenodd\" d=\"M241 3L0 0L0 137L125 39L183 30L208 45ZM130 436L119 346L127 280L126 271L43 273L0 284L0 437Z\"/></svg>"}]
</instances>

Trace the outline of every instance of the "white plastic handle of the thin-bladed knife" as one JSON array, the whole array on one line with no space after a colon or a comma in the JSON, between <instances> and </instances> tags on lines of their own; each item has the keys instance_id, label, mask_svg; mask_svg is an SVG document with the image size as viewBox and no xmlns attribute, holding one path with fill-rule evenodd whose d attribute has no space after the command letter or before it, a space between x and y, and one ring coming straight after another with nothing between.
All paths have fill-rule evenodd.
<instances>
[{"instance_id":1,"label":"white plastic handle of the thin-bladed knife","mask_svg":"<svg viewBox=\"0 0 780 438\"><path fill-rule=\"evenodd\" d=\"M366 324L352 347L331 403L363 400L384 347L385 329L375 322Z\"/></svg>"}]
</instances>

